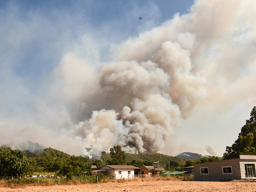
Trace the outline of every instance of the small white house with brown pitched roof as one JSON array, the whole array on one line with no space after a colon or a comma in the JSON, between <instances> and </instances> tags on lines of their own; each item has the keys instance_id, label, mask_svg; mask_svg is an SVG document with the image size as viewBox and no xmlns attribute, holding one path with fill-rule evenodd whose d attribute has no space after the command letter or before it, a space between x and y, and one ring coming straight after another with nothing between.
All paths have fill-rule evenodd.
<instances>
[{"instance_id":1,"label":"small white house with brown pitched roof","mask_svg":"<svg viewBox=\"0 0 256 192\"><path fill-rule=\"evenodd\" d=\"M138 167L132 165L105 165L98 169L104 175L113 176L116 179L130 179L134 177L134 170L140 170Z\"/></svg>"}]
</instances>

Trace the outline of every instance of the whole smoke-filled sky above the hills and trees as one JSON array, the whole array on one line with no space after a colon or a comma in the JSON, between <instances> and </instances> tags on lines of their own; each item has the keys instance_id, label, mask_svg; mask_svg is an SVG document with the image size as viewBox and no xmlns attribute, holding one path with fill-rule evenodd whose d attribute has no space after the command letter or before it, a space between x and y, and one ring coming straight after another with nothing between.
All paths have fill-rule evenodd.
<instances>
[{"instance_id":1,"label":"whole smoke-filled sky above the hills and trees","mask_svg":"<svg viewBox=\"0 0 256 192\"><path fill-rule=\"evenodd\" d=\"M222 156L256 105L255 8L0 1L0 144Z\"/></svg>"}]
</instances>

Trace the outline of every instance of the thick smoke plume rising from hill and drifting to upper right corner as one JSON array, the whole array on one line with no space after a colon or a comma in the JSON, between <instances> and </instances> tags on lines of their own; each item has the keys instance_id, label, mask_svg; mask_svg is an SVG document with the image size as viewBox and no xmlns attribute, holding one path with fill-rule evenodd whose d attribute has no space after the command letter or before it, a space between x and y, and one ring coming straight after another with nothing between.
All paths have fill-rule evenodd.
<instances>
[{"instance_id":1,"label":"thick smoke plume rising from hill and drifting to upper right corner","mask_svg":"<svg viewBox=\"0 0 256 192\"><path fill-rule=\"evenodd\" d=\"M131 153L158 152L181 119L206 98L207 90L215 92L207 99L226 102L229 98L216 95L255 64L248 49L248 40L255 40L250 3L255 4L199 0L189 14L176 14L123 43L115 53L117 61L106 64L99 74L96 95L106 108L94 111L76 128L88 153L117 144Z\"/></svg>"}]
</instances>

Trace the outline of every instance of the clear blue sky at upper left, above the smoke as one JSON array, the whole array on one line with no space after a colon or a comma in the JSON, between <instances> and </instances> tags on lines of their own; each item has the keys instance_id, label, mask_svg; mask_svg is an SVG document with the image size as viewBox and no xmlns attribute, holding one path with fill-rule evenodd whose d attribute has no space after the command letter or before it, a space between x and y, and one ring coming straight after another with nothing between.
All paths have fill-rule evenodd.
<instances>
[{"instance_id":1,"label":"clear blue sky at upper left, above the smoke","mask_svg":"<svg viewBox=\"0 0 256 192\"><path fill-rule=\"evenodd\" d=\"M28 86L44 81L63 54L84 35L104 38L100 60L110 44L186 13L193 1L1 1L3 55ZM142 19L138 19L142 17ZM107 39L107 42L106 42ZM100 41L100 40L98 40ZM33 83L31 83L33 82ZM31 85L29 85L31 84ZM35 86L35 87L34 87Z\"/></svg>"}]
</instances>

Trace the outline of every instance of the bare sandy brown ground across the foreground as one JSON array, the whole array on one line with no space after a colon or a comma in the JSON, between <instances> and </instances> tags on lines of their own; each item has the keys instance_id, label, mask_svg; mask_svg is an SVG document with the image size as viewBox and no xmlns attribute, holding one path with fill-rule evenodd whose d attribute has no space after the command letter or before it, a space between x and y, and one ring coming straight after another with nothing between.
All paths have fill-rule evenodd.
<instances>
[{"instance_id":1,"label":"bare sandy brown ground across the foreground","mask_svg":"<svg viewBox=\"0 0 256 192\"><path fill-rule=\"evenodd\" d=\"M250 191L256 192L256 182L211 182L211 181L149 181L125 183L95 183L80 185L34 186L22 188L0 188L1 192L172 192L172 191L201 191L228 192Z\"/></svg>"}]
</instances>

